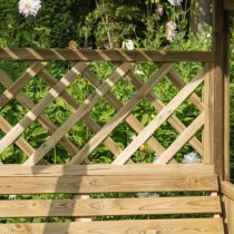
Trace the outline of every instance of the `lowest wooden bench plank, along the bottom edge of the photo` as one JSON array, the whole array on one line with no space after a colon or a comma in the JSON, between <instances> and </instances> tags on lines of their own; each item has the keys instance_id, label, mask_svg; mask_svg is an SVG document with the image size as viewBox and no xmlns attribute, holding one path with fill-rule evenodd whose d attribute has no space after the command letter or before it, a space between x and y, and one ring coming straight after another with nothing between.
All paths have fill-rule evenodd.
<instances>
[{"instance_id":1,"label":"lowest wooden bench plank, along the bottom edge of the photo","mask_svg":"<svg viewBox=\"0 0 234 234\"><path fill-rule=\"evenodd\" d=\"M0 234L224 234L222 218L0 224Z\"/></svg>"}]
</instances>

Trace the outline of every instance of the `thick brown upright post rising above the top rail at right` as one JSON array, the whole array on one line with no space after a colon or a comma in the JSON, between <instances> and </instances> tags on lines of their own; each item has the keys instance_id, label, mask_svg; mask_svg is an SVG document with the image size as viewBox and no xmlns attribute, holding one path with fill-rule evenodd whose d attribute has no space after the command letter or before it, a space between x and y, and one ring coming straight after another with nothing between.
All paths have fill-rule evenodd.
<instances>
[{"instance_id":1,"label":"thick brown upright post rising above the top rail at right","mask_svg":"<svg viewBox=\"0 0 234 234\"><path fill-rule=\"evenodd\" d=\"M224 11L223 0L213 0L213 52L214 74L214 165L221 179L224 178Z\"/></svg>"}]
</instances>

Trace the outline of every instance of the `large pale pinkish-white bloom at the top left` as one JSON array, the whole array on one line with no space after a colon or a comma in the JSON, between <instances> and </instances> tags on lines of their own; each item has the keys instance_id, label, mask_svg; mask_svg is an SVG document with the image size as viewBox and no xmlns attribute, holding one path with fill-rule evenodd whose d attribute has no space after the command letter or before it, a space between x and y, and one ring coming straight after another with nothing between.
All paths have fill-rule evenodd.
<instances>
[{"instance_id":1,"label":"large pale pinkish-white bloom at the top left","mask_svg":"<svg viewBox=\"0 0 234 234\"><path fill-rule=\"evenodd\" d=\"M19 1L19 12L25 17L33 16L36 17L38 11L41 9L40 0L20 0Z\"/></svg>"}]
</instances>

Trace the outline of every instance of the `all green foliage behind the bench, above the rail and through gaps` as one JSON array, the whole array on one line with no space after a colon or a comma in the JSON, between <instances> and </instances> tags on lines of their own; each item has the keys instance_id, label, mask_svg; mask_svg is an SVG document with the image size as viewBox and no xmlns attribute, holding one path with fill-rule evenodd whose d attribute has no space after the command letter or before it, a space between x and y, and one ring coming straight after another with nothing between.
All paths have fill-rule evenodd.
<instances>
[{"instance_id":1,"label":"all green foliage behind the bench, above the rail and through gaps","mask_svg":"<svg viewBox=\"0 0 234 234\"><path fill-rule=\"evenodd\" d=\"M188 8L186 4L174 8L166 0L160 1L164 7L164 14L160 16L157 11L157 6L153 0L45 0L42 1L42 10L37 18L25 19L18 12L18 0L8 0L0 4L0 47L68 47L70 40L75 40L79 48L118 48L121 42L127 39L133 39L136 48L144 49L168 49L168 50L211 50L211 28L207 26L206 33L201 40L197 40L189 33ZM166 22L174 21L177 23L176 35L172 42L166 41ZM234 33L233 33L234 35ZM231 53L231 64L234 67L234 53ZM68 62L51 61L47 69L56 79L60 79L66 75L71 67ZM179 62L175 66L175 71L183 77L184 81L189 81L201 69L201 64ZM16 80L27 68L25 62L0 61L0 68L3 69L13 80ZM114 71L115 66L108 62L92 62L89 65L90 70L101 81ZM134 67L134 72L137 74L143 82L146 82L149 77L157 70L157 66L153 62L139 62ZM231 79L234 80L234 69L231 70ZM67 88L67 92L81 105L95 91L95 87L90 85L82 76ZM0 86L0 94L4 88ZM45 97L49 86L39 77L32 79L23 88L23 92L37 104ZM234 86L231 86L231 96L234 98ZM162 100L163 104L168 104L169 100L178 94L178 89L165 78L155 88L154 94ZM136 92L136 88L126 79L120 79L111 92L124 105ZM196 89L201 97L201 88ZM231 101L231 138L234 138L234 105ZM10 101L1 109L3 116L12 126L23 118L28 110L25 109L18 101ZM72 114L72 109L61 98L57 98L48 106L45 115L57 126L61 126L66 119ZM105 99L100 99L89 113L90 117L100 126L104 126L113 116L116 109ZM134 116L147 126L150 120L158 114L148 100L144 99L133 110ZM186 100L174 113L185 126L188 126L199 111L195 106ZM23 137L33 148L39 148L51 134L37 120L31 124ZM136 131L125 121L109 135L117 145L124 149L133 140ZM0 138L4 134L0 131ZM78 121L66 137L72 142L77 148L84 147L94 133L84 124ZM165 147L177 138L178 133L168 124L163 124L154 136ZM196 134L201 139L201 130ZM234 175L234 144L231 143L232 173ZM175 156L181 162L183 156L194 149L189 144L186 144ZM155 159L155 153L148 144L144 144L133 155L131 159L135 163L152 163ZM7 164L20 164L28 158L18 146L9 146L1 155L0 159ZM58 144L52 148L45 160L48 164L66 164L71 159L71 155L65 147ZM94 164L109 164L115 159L104 144L100 144L90 155L89 160ZM154 196L154 194L150 194ZM168 195L168 194L166 194ZM177 195L170 193L172 196ZM182 194L179 194L182 195ZM189 194L185 194L189 195ZM137 197L138 194L94 194L92 198L98 197ZM165 196L165 194L160 194ZM8 199L8 196L0 197ZM71 194L65 195L20 195L19 199L45 199L45 198L72 198ZM152 216L131 216L130 218L150 218ZM172 217L172 216L170 216ZM173 216L178 217L178 216ZM181 217L181 216L179 216ZM187 216L186 216L187 217ZM106 220L119 220L123 217L100 217ZM100 220L97 217L96 220ZM129 218L129 216L128 216ZM46 220L48 221L48 220ZM52 217L49 222L69 222L72 218ZM0 223L39 223L45 222L45 218L8 218L0 220Z\"/></svg>"}]
</instances>

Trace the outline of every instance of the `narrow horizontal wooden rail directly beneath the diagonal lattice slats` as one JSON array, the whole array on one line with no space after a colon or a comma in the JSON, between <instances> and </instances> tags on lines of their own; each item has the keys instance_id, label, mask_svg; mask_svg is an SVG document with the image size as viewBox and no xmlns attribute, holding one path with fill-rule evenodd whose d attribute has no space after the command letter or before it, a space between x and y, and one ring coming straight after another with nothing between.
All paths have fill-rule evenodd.
<instances>
[{"instance_id":1,"label":"narrow horizontal wooden rail directly beneath the diagonal lattice slats","mask_svg":"<svg viewBox=\"0 0 234 234\"><path fill-rule=\"evenodd\" d=\"M177 164L177 165L155 165L155 164L135 164L135 165L4 165L0 166L1 177L60 177L60 176L127 176L152 175L158 177L166 175L168 177L186 176L188 174L214 175L213 165L203 164Z\"/></svg>"}]
</instances>

